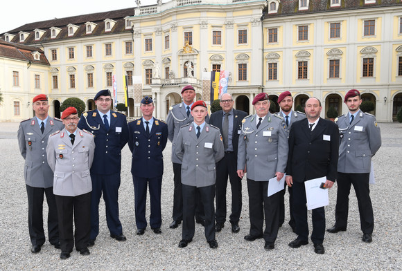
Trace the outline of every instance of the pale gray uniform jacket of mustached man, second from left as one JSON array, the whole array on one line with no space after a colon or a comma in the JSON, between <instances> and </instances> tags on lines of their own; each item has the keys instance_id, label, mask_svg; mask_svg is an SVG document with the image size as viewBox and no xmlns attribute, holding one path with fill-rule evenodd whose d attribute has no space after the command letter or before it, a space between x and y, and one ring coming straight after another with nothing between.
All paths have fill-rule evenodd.
<instances>
[{"instance_id":1,"label":"pale gray uniform jacket of mustached man, second from left","mask_svg":"<svg viewBox=\"0 0 402 271\"><path fill-rule=\"evenodd\" d=\"M77 129L71 144L66 129L53 133L46 147L47 160L54 172L53 194L79 196L92 191L91 168L94 160L94 136Z\"/></svg>"}]
</instances>

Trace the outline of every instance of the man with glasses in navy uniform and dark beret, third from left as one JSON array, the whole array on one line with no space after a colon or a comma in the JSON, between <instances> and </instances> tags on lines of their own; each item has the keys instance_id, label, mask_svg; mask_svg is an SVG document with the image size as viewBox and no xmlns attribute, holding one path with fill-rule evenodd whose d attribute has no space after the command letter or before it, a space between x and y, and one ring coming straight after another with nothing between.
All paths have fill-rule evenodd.
<instances>
[{"instance_id":1,"label":"man with glasses in navy uniform and dark beret, third from left","mask_svg":"<svg viewBox=\"0 0 402 271\"><path fill-rule=\"evenodd\" d=\"M78 128L90 131L95 136L95 155L91 167L91 235L89 246L95 244L99 233L99 200L103 194L106 207L107 227L110 237L125 241L119 220L119 187L121 149L128 142L128 126L125 115L110 110L110 91L99 91L94 101L96 109L82 114Z\"/></svg>"}]
</instances>

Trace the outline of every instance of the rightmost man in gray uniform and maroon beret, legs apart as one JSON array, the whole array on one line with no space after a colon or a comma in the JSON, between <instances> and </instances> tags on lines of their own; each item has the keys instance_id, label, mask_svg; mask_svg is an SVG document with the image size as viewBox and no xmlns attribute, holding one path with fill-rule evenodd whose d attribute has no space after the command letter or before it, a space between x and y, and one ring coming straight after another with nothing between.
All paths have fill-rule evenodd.
<instances>
[{"instance_id":1,"label":"rightmost man in gray uniform and maroon beret, legs apart","mask_svg":"<svg viewBox=\"0 0 402 271\"><path fill-rule=\"evenodd\" d=\"M374 115L360 111L362 99L359 91L348 91L344 103L349 112L335 120L340 136L335 225L327 232L337 233L347 229L349 193L353 185L358 198L362 241L371 243L374 215L369 175L372 157L381 147L381 132Z\"/></svg>"}]
</instances>

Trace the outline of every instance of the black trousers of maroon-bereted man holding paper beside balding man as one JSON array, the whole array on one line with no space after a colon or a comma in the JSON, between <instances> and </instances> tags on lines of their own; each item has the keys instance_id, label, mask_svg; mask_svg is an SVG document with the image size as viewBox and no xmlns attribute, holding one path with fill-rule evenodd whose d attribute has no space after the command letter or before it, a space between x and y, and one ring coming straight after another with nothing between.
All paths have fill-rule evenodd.
<instances>
[{"instance_id":1,"label":"black trousers of maroon-bereted man holding paper beside balding man","mask_svg":"<svg viewBox=\"0 0 402 271\"><path fill-rule=\"evenodd\" d=\"M268 181L256 182L247 178L250 209L250 235L263 236L265 242L274 243L279 230L279 193L268 197ZM265 230L263 223L265 216Z\"/></svg>"}]
</instances>

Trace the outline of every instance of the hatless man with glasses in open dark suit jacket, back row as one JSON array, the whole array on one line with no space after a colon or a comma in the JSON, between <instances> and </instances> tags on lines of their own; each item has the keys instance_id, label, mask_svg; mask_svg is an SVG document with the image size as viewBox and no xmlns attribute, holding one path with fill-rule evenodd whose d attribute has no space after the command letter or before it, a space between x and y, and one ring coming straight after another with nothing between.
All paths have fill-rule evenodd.
<instances>
[{"instance_id":1,"label":"hatless man with glasses in open dark suit jacket, back row","mask_svg":"<svg viewBox=\"0 0 402 271\"><path fill-rule=\"evenodd\" d=\"M222 133L225 156L216 164L216 232L220 232L226 221L226 188L227 176L231 185L231 231L239 232L238 221L241 214L241 178L237 175L238 135L241 132L241 121L247 113L233 109L234 100L229 93L220 97L222 110L211 114L209 124L220 129Z\"/></svg>"}]
</instances>

